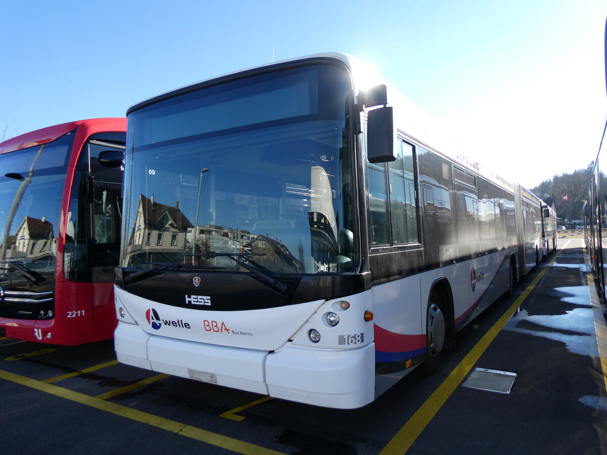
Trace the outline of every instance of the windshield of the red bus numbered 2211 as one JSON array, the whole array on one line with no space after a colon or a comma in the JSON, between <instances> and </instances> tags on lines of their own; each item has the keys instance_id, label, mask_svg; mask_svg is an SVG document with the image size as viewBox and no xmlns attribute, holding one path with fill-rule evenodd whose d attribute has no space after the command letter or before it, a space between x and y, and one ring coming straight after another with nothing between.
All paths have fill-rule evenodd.
<instances>
[{"instance_id":1,"label":"windshield of the red bus numbered 2211","mask_svg":"<svg viewBox=\"0 0 607 455\"><path fill-rule=\"evenodd\" d=\"M1 269L53 274L73 135L0 157Z\"/></svg>"}]
</instances>

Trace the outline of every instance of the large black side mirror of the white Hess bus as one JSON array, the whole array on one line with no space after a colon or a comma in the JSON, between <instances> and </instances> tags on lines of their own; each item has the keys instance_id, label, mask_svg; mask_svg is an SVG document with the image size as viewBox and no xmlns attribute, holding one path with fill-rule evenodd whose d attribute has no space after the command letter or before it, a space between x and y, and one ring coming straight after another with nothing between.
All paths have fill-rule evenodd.
<instances>
[{"instance_id":1,"label":"large black side mirror of the white Hess bus","mask_svg":"<svg viewBox=\"0 0 607 455\"><path fill-rule=\"evenodd\" d=\"M368 112L367 160L369 163L396 161L392 107L378 107Z\"/></svg>"}]
</instances>

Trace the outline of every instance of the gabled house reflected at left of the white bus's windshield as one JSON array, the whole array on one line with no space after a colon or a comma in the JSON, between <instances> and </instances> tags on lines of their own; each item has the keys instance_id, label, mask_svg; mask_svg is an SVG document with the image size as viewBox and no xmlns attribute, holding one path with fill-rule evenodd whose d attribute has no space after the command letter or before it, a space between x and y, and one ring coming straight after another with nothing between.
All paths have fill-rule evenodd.
<instances>
[{"instance_id":1,"label":"gabled house reflected at left of the white bus's windshield","mask_svg":"<svg viewBox=\"0 0 607 455\"><path fill-rule=\"evenodd\" d=\"M139 196L137 220L129 238L129 254L149 253L153 256L145 261L164 260L171 254L183 253L186 249L186 232L192 223L179 209L179 201L174 206L154 201L154 196ZM158 255L159 254L159 255Z\"/></svg>"}]
</instances>

